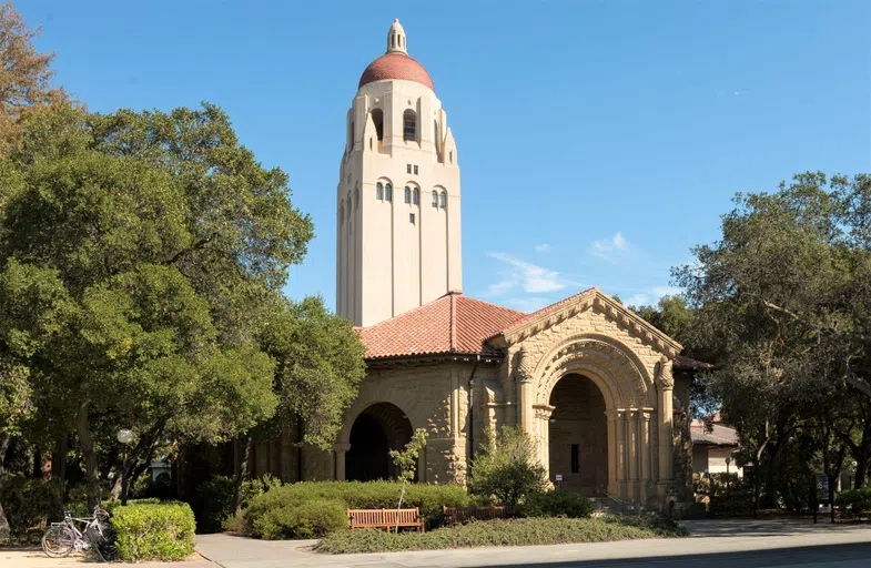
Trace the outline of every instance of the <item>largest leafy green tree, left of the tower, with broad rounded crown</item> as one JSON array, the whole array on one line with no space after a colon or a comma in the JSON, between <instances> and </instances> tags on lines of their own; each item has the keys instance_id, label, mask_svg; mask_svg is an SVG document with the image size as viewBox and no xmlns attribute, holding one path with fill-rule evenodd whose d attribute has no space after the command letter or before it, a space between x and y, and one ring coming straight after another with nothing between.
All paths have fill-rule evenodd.
<instances>
[{"instance_id":1,"label":"largest leafy green tree, left of the tower, with broad rounded crown","mask_svg":"<svg viewBox=\"0 0 871 568\"><path fill-rule=\"evenodd\" d=\"M0 271L39 272L71 305L33 315L57 332L28 366L51 394L38 413L77 433L91 505L119 427L136 435L129 471L162 439L216 443L272 416L261 306L312 225L220 109L60 109L29 120L0 160Z\"/></svg>"}]
</instances>

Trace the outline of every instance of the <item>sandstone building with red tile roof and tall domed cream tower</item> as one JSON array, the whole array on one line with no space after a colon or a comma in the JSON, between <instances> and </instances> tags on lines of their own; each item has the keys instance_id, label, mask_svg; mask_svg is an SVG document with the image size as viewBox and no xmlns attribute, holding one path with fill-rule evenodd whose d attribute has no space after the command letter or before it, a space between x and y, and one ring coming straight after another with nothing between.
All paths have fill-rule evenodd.
<instances>
[{"instance_id":1,"label":"sandstone building with red tile roof and tall domed cream tower","mask_svg":"<svg viewBox=\"0 0 871 568\"><path fill-rule=\"evenodd\" d=\"M387 450L425 428L418 481L464 483L488 433L516 425L561 489L662 506L686 496L700 364L677 342L598 288L531 314L462 293L456 143L398 21L346 124L336 306L359 326L367 376L333 452L295 448L288 428L254 448L254 473L388 478Z\"/></svg>"}]
</instances>

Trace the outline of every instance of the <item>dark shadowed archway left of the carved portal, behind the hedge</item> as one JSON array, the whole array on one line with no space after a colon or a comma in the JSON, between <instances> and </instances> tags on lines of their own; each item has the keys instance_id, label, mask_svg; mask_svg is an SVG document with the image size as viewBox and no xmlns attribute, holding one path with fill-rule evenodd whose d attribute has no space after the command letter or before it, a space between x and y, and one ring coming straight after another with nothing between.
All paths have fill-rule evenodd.
<instances>
[{"instance_id":1,"label":"dark shadowed archway left of the carved portal, behind the hedge","mask_svg":"<svg viewBox=\"0 0 871 568\"><path fill-rule=\"evenodd\" d=\"M391 479L398 471L388 453L412 439L412 423L397 406L377 403L359 413L351 427L351 449L345 458L345 479Z\"/></svg>"}]
</instances>

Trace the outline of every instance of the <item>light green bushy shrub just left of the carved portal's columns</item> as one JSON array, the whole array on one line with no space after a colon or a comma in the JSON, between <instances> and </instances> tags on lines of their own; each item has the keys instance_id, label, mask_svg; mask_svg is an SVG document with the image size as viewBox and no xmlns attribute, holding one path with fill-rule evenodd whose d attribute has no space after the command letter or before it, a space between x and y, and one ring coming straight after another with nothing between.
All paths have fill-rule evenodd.
<instances>
[{"instance_id":1,"label":"light green bushy shrub just left of the carved portal's columns","mask_svg":"<svg viewBox=\"0 0 871 568\"><path fill-rule=\"evenodd\" d=\"M468 490L515 507L528 494L541 491L547 483L545 468L535 458L535 444L519 427L505 427L488 439L472 462Z\"/></svg>"}]
</instances>

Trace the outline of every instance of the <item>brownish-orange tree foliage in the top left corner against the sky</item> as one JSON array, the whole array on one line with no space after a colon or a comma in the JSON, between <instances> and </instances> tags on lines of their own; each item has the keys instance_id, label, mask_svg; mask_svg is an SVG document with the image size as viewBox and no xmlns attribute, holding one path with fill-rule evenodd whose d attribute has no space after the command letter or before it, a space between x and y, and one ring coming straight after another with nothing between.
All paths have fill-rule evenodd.
<instances>
[{"instance_id":1,"label":"brownish-orange tree foliage in the top left corner against the sky","mask_svg":"<svg viewBox=\"0 0 871 568\"><path fill-rule=\"evenodd\" d=\"M11 2L0 3L0 151L34 111L67 102L62 89L52 87L54 54L39 53L30 29Z\"/></svg>"}]
</instances>

